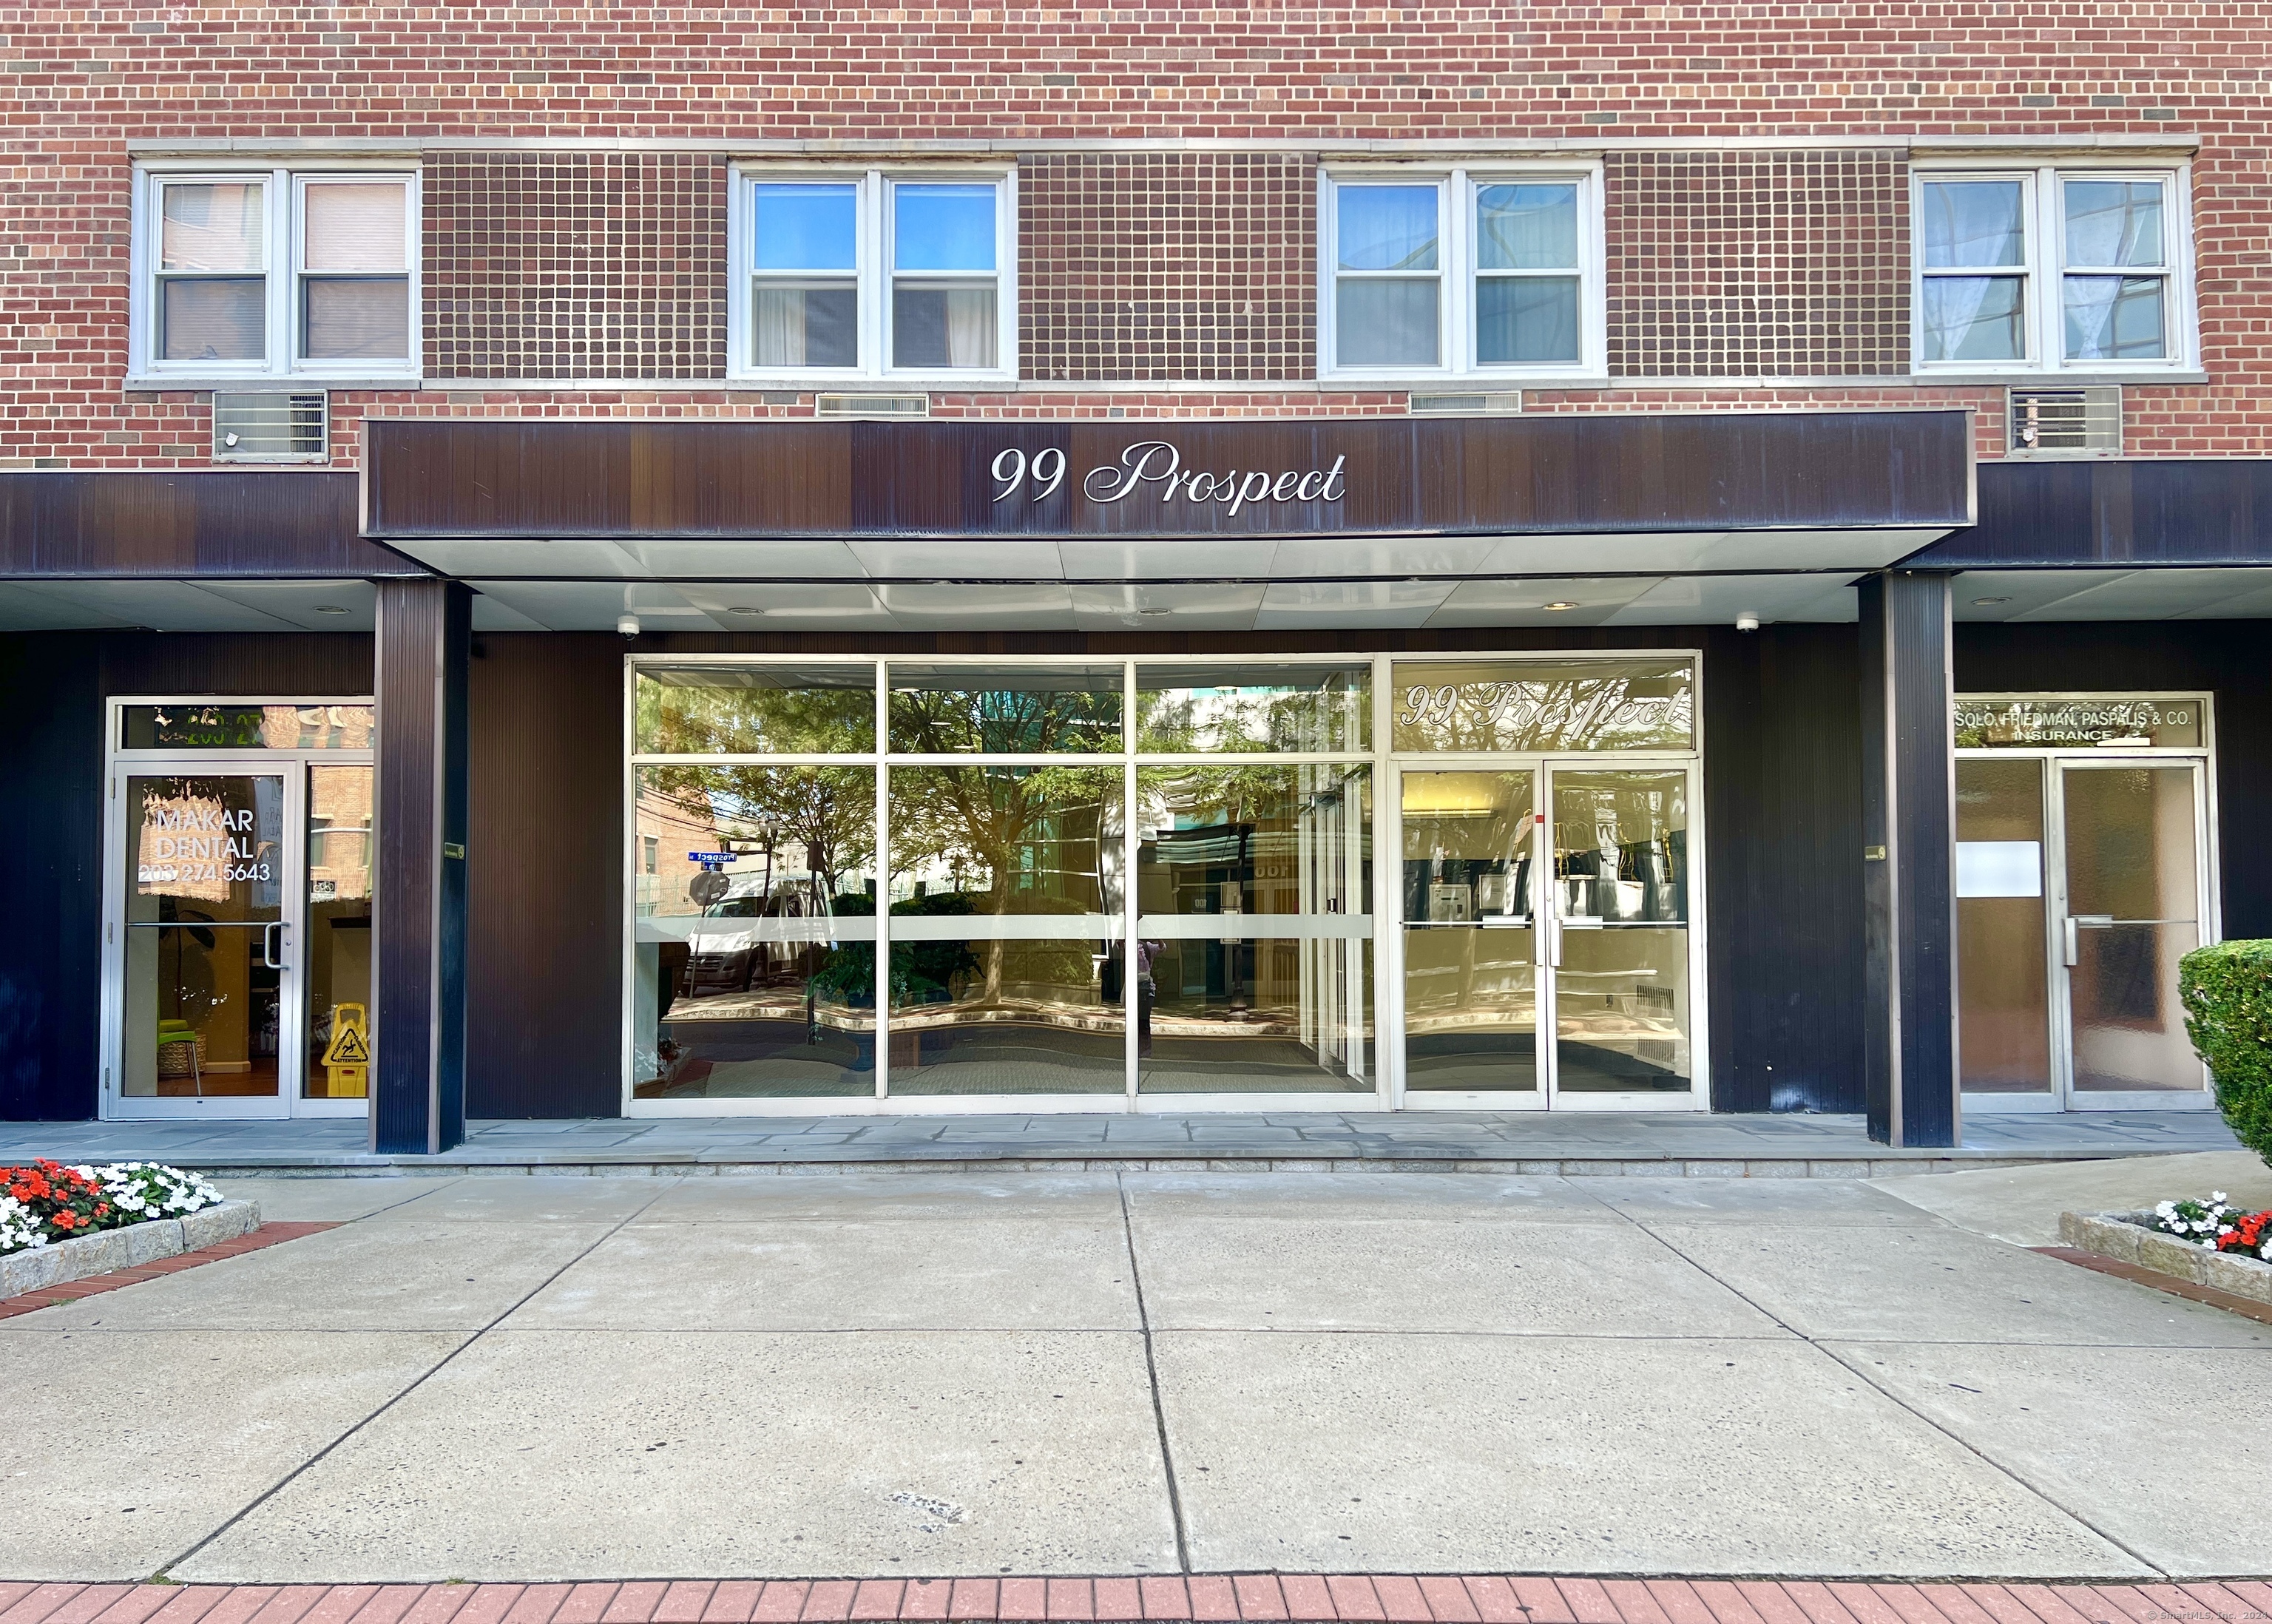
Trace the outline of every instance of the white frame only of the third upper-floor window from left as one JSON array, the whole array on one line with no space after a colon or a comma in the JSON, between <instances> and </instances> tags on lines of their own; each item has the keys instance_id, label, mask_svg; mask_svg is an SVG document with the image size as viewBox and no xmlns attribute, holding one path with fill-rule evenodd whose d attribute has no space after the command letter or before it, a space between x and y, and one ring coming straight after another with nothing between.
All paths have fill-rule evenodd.
<instances>
[{"instance_id":1,"label":"white frame only of the third upper-floor window from left","mask_svg":"<svg viewBox=\"0 0 2272 1624\"><path fill-rule=\"evenodd\" d=\"M1477 193L1484 186L1563 182L1577 186L1577 279L1579 279L1579 348L1577 361L1477 361L1477 279L1475 243ZM1345 366L1336 354L1340 332L1340 186L1390 184L1436 186L1438 236L1436 275L1440 279L1436 366ZM1322 382L1381 384L1413 379L1443 384L1490 382L1561 384L1609 379L1609 286L1604 275L1602 164L1475 164L1450 168L1420 166L1331 166L1318 170L1318 377ZM1350 273L1368 275L1368 273ZM1400 273L1402 275L1402 273Z\"/></svg>"}]
</instances>

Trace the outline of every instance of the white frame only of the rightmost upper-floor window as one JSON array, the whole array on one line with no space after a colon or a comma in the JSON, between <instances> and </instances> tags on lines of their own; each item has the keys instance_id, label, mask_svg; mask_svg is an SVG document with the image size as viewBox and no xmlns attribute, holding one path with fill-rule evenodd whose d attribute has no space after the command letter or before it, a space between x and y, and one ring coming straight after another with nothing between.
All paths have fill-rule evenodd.
<instances>
[{"instance_id":1,"label":"white frame only of the rightmost upper-floor window","mask_svg":"<svg viewBox=\"0 0 2272 1624\"><path fill-rule=\"evenodd\" d=\"M2024 277L2027 357L2018 361L1927 361L1924 359L1924 186L1929 182L2020 182L2022 223L2027 229ZM2072 179L2156 179L2163 186L2163 298L2165 354L2138 361L2068 359L2068 218L2065 182ZM2140 379L2199 370L2202 327L2192 275L2192 166L2158 161L2090 161L2090 164L1979 164L1963 159L1918 159L1908 182L1911 218L1911 368L1922 377L2029 379L2065 377L2086 382ZM2077 266L2077 275L2102 273ZM1943 270L1933 275L1997 275L1993 268Z\"/></svg>"}]
</instances>

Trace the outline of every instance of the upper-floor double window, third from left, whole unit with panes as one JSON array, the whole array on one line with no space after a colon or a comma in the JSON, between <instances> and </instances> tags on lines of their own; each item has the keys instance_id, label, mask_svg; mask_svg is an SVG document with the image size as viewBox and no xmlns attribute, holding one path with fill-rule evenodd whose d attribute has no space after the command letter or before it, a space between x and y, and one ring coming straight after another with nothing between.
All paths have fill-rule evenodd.
<instances>
[{"instance_id":1,"label":"upper-floor double window, third from left, whole unit with panes","mask_svg":"<svg viewBox=\"0 0 2272 1624\"><path fill-rule=\"evenodd\" d=\"M1602 370L1599 177L1329 175L1325 372Z\"/></svg>"}]
</instances>

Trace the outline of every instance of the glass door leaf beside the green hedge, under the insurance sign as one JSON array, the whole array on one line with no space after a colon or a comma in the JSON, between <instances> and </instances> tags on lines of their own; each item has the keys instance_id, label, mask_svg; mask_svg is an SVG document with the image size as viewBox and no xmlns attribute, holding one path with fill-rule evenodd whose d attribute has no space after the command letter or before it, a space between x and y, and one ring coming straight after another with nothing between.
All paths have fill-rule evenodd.
<instances>
[{"instance_id":1,"label":"glass door leaf beside the green hedge, under the insurance sign","mask_svg":"<svg viewBox=\"0 0 2272 1624\"><path fill-rule=\"evenodd\" d=\"M2165 1104L2204 1090L2177 961L2206 940L2202 770L2061 763L2061 961L2077 1106Z\"/></svg>"}]
</instances>

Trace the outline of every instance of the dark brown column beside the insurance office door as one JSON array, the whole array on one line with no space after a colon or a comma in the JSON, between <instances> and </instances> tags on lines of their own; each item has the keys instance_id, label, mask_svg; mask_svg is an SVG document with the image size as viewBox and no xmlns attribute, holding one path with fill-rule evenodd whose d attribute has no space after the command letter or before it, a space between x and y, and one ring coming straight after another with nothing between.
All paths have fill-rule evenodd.
<instances>
[{"instance_id":1,"label":"dark brown column beside the insurance office door","mask_svg":"<svg viewBox=\"0 0 2272 1624\"><path fill-rule=\"evenodd\" d=\"M1956 722L1949 577L1861 581L1870 1138L1956 1145Z\"/></svg>"}]
</instances>

